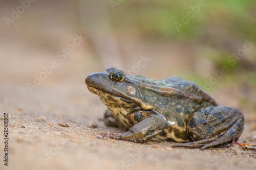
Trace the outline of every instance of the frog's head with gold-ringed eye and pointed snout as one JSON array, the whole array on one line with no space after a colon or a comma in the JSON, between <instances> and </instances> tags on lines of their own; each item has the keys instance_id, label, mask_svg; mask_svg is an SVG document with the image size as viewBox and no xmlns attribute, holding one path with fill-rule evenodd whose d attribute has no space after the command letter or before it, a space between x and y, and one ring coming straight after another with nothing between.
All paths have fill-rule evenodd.
<instances>
[{"instance_id":1,"label":"frog's head with gold-ringed eye and pointed snout","mask_svg":"<svg viewBox=\"0 0 256 170\"><path fill-rule=\"evenodd\" d=\"M88 89L99 95L112 111L113 107L119 110L129 108L130 111L135 108L136 110L153 110L152 105L142 101L137 84L139 82L135 81L134 77L136 76L125 75L122 70L110 67L104 72L94 72L89 75L86 78L86 84Z\"/></svg>"}]
</instances>

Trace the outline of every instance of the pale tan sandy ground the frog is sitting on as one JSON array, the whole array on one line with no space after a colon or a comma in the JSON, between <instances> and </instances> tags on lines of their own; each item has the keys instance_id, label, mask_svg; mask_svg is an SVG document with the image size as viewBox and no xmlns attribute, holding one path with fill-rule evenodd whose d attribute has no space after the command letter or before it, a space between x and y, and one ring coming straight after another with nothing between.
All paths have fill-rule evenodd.
<instances>
[{"instance_id":1,"label":"pale tan sandy ground the frog is sitting on","mask_svg":"<svg viewBox=\"0 0 256 170\"><path fill-rule=\"evenodd\" d=\"M2 61L8 64L10 59ZM0 107L1 117L4 113L9 116L9 162L6 167L2 160L0 169L255 169L256 152L243 150L237 144L201 151L172 149L172 143L157 140L141 144L98 139L103 131L123 130L106 127L102 122L105 107L83 82L89 73L81 71L74 76L74 71L67 74L66 69L68 66L60 67L65 75L49 76L32 93L23 81L26 74L2 74L6 81L0 85ZM229 103L245 111L245 129L239 142L256 143L256 114L237 102L237 94L236 89L224 88L213 96L221 104ZM90 122L96 122L98 127L90 128ZM3 120L0 127L3 141ZM0 148L3 159L3 142Z\"/></svg>"}]
</instances>

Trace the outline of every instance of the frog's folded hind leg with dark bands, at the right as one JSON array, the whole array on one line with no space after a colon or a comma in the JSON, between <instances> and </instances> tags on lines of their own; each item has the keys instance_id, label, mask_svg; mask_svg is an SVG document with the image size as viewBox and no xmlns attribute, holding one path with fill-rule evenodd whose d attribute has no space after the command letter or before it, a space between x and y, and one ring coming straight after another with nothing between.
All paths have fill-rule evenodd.
<instances>
[{"instance_id":1,"label":"frog's folded hind leg with dark bands, at the right","mask_svg":"<svg viewBox=\"0 0 256 170\"><path fill-rule=\"evenodd\" d=\"M236 108L208 106L193 113L187 123L187 133L194 142L172 147L200 148L228 145L237 141L243 132L244 117Z\"/></svg>"}]
</instances>

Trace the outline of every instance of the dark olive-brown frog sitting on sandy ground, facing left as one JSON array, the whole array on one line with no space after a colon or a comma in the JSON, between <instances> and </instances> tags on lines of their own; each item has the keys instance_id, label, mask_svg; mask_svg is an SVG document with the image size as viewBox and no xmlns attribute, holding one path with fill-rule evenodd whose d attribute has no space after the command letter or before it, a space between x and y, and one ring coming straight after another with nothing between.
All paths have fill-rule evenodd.
<instances>
[{"instance_id":1,"label":"dark olive-brown frog sitting on sandy ground, facing left","mask_svg":"<svg viewBox=\"0 0 256 170\"><path fill-rule=\"evenodd\" d=\"M207 92L181 77L148 79L127 75L116 67L90 74L85 83L108 111L106 125L125 133L102 133L101 138L133 142L151 139L175 142L171 147L228 147L244 129L244 116L234 107L219 105Z\"/></svg>"}]
</instances>

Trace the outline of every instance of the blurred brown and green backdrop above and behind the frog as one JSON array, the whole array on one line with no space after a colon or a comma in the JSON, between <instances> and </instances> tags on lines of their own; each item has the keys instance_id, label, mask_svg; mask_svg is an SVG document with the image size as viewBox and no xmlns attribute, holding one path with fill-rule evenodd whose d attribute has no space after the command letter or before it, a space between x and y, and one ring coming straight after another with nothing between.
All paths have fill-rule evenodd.
<instances>
[{"instance_id":1,"label":"blurred brown and green backdrop above and behind the frog","mask_svg":"<svg viewBox=\"0 0 256 170\"><path fill-rule=\"evenodd\" d=\"M256 42L253 0L22 2L27 4L1 1L2 83L27 89L42 66L56 59L59 66L33 91L60 85L79 91L86 88L87 75L116 66L152 79L181 76L221 104L255 110L256 43L247 45L243 57L232 57L243 51L246 39ZM57 53L75 34L87 39L60 61ZM143 67L141 56L149 59ZM36 93L27 89L25 94Z\"/></svg>"}]
</instances>

